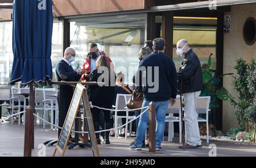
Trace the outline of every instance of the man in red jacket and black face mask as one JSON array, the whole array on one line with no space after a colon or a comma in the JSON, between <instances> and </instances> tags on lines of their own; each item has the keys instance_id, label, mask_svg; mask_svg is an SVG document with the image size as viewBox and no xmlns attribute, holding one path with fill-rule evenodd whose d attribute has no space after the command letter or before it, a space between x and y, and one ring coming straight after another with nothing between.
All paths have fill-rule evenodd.
<instances>
[{"instance_id":1,"label":"man in red jacket and black face mask","mask_svg":"<svg viewBox=\"0 0 256 168\"><path fill-rule=\"evenodd\" d=\"M90 73L92 73L93 70L96 69L96 61L100 56L106 57L106 53L104 51L100 51L96 43L90 44L89 53L82 64L82 70L85 70L85 74L81 77L82 81L88 82L90 80ZM114 70L114 64L112 60L109 57L106 58L109 61L111 69Z\"/></svg>"}]
</instances>

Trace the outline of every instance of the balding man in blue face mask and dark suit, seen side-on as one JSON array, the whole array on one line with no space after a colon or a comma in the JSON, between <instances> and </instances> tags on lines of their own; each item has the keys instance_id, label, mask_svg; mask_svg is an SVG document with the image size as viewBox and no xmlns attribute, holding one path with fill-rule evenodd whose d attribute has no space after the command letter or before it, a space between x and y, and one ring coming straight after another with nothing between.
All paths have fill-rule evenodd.
<instances>
[{"instance_id":1,"label":"balding man in blue face mask and dark suit, seen side-on","mask_svg":"<svg viewBox=\"0 0 256 168\"><path fill-rule=\"evenodd\" d=\"M57 81L78 82L81 75L85 72L81 69L73 70L71 62L75 61L76 51L73 48L67 48L64 57L56 66ZM73 87L69 85L59 85L59 95L57 96L59 104L59 127L63 127L68 109L73 97ZM61 129L59 129L60 136Z\"/></svg>"}]
</instances>

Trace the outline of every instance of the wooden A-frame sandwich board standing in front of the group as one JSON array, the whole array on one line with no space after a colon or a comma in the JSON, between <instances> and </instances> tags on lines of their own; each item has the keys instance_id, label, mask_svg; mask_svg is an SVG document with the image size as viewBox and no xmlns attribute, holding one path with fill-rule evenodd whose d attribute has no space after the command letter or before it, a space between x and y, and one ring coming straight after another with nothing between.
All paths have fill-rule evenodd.
<instances>
[{"instance_id":1,"label":"wooden A-frame sandwich board standing in front of the group","mask_svg":"<svg viewBox=\"0 0 256 168\"><path fill-rule=\"evenodd\" d=\"M60 152L62 157L64 156L69 141L69 137L71 135L72 127L76 119L77 110L79 110L81 104L81 100L84 107L84 117L86 119L86 123L88 124L90 144L92 146L93 156L100 157L100 152L98 151L98 144L96 141L96 135L93 126L92 114L90 112L89 107L87 91L85 87L81 84L76 85L71 105L69 106L68 114L63 124L63 129L61 130L59 140L53 153L53 157L55 157L57 150Z\"/></svg>"}]
</instances>

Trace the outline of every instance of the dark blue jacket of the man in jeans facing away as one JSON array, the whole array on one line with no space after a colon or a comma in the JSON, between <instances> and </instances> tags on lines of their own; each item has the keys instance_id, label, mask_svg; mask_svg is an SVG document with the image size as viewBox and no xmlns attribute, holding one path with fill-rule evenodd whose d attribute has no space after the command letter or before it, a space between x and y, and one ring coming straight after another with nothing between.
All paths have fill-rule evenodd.
<instances>
[{"instance_id":1,"label":"dark blue jacket of the man in jeans facing away","mask_svg":"<svg viewBox=\"0 0 256 168\"><path fill-rule=\"evenodd\" d=\"M142 67L146 68L146 72L143 72L143 70L140 70ZM148 68L152 67L152 73L148 73ZM159 73L154 74L154 69L158 67ZM158 75L158 76L155 76ZM142 79L142 77L146 78L146 83L143 83L143 80L140 80L138 83L135 81L135 83L138 85L143 86L143 94L144 99L148 101L153 102L161 102L161 101L167 101L170 98L176 98L177 95L177 72L175 68L174 61L172 61L168 56L166 56L162 52L152 52L149 56L144 58L141 63L139 64L139 69L136 73L136 78ZM149 78L148 78L149 77ZM158 77L158 78L157 78ZM150 79L151 78L151 79ZM158 90L156 90L154 93L152 93L152 89L154 86L152 86L152 82L159 82ZM146 85L144 85L146 84ZM157 87L156 87L157 88Z\"/></svg>"}]
</instances>

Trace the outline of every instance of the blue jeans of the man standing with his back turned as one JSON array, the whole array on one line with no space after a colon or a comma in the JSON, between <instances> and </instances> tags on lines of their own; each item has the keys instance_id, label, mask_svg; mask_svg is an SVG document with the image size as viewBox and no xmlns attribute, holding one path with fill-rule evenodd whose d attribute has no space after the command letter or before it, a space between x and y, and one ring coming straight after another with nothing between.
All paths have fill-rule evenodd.
<instances>
[{"instance_id":1,"label":"blue jeans of the man standing with his back turned","mask_svg":"<svg viewBox=\"0 0 256 168\"><path fill-rule=\"evenodd\" d=\"M156 108L156 148L161 146L164 137L164 129L165 129L165 120L166 120L166 110L168 108L169 101L164 102L153 102ZM150 104L150 101L144 100L142 107L147 107ZM144 110L142 110L143 112ZM148 123L148 110L141 115L139 118L139 126L137 129L137 139L135 142L136 146L142 147L142 141L145 138L145 133L147 131L147 123Z\"/></svg>"}]
</instances>

